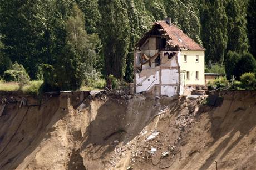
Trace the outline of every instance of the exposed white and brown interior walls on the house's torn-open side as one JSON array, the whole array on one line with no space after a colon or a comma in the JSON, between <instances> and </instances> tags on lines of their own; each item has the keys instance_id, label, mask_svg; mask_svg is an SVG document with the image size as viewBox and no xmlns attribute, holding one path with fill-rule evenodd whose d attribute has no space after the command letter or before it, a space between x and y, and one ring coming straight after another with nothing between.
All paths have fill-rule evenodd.
<instances>
[{"instance_id":1,"label":"exposed white and brown interior walls on the house's torn-open side","mask_svg":"<svg viewBox=\"0 0 256 170\"><path fill-rule=\"evenodd\" d=\"M148 54L152 50L142 51L144 54ZM143 53L142 51L141 53ZM178 51L161 51L159 66L155 66L154 62L151 63L151 66L149 63L144 64L145 66L142 66L140 73L135 73L136 92L154 90L155 95L168 95L169 97L179 94L181 87L179 83L178 53ZM150 57L154 55L150 55Z\"/></svg>"}]
</instances>

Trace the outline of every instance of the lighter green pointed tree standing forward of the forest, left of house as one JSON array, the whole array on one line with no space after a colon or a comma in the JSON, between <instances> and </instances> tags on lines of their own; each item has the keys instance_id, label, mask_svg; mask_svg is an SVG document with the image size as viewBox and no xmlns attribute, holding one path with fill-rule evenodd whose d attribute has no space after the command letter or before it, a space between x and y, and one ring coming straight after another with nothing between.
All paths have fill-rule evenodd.
<instances>
[{"instance_id":1,"label":"lighter green pointed tree standing forward of the forest, left of house","mask_svg":"<svg viewBox=\"0 0 256 170\"><path fill-rule=\"evenodd\" d=\"M67 19L66 32L66 45L54 66L57 86L61 90L77 90L95 73L97 36L86 33L83 13L76 4Z\"/></svg>"}]
</instances>

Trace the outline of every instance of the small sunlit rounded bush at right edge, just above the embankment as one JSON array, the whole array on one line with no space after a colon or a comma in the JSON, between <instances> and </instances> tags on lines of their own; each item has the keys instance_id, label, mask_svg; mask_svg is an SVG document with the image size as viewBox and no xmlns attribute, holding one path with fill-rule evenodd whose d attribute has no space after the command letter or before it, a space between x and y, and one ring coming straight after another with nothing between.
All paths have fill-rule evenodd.
<instances>
[{"instance_id":1,"label":"small sunlit rounded bush at right edge, just above the embankment","mask_svg":"<svg viewBox=\"0 0 256 170\"><path fill-rule=\"evenodd\" d=\"M240 77L242 86L247 90L253 90L256 87L256 79L254 73L244 73Z\"/></svg>"}]
</instances>

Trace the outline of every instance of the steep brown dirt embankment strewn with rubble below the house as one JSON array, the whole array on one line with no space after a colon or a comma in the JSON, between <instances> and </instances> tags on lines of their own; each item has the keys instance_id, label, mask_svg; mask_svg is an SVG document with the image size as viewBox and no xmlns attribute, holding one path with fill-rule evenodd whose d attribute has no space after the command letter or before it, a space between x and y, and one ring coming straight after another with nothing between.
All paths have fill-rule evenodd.
<instances>
[{"instance_id":1,"label":"steep brown dirt embankment strewn with rubble below the house","mask_svg":"<svg viewBox=\"0 0 256 170\"><path fill-rule=\"evenodd\" d=\"M256 169L256 92L219 96L2 94L0 169Z\"/></svg>"}]
</instances>

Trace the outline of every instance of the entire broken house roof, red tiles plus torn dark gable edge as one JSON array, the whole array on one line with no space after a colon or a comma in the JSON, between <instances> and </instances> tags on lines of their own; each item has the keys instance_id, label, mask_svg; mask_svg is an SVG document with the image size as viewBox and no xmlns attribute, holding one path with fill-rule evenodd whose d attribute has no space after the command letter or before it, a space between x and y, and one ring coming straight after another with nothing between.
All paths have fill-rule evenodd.
<instances>
[{"instance_id":1,"label":"entire broken house roof, red tiles plus torn dark gable edge","mask_svg":"<svg viewBox=\"0 0 256 170\"><path fill-rule=\"evenodd\" d=\"M160 20L154 23L153 27L136 44L141 47L147 38L151 36L161 36L167 39L166 47L179 48L186 50L205 50L201 45L188 37L181 29L174 24L169 24L166 20Z\"/></svg>"}]
</instances>

